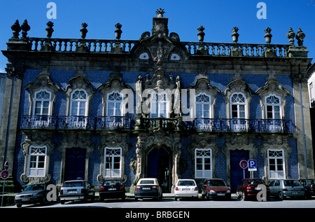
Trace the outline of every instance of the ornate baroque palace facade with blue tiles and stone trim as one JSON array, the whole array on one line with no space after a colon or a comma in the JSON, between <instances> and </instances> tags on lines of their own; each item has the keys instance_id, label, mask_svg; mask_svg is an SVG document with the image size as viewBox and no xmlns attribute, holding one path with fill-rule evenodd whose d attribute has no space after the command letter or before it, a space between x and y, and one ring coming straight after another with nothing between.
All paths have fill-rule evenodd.
<instances>
[{"instance_id":1,"label":"ornate baroque palace facade with blue tiles and stone trim","mask_svg":"<svg viewBox=\"0 0 315 222\"><path fill-rule=\"evenodd\" d=\"M20 186L81 177L127 187L156 177L164 192L178 179L314 176L307 90L311 59L304 33L289 44L182 42L158 9L140 39L27 36L27 20L8 40L1 161ZM22 36L19 32L22 30ZM285 34L284 34L285 35ZM295 39L297 45L295 46ZM302 99L302 100L301 100ZM256 160L248 172L240 160ZM244 175L245 174L245 175Z\"/></svg>"}]
</instances>

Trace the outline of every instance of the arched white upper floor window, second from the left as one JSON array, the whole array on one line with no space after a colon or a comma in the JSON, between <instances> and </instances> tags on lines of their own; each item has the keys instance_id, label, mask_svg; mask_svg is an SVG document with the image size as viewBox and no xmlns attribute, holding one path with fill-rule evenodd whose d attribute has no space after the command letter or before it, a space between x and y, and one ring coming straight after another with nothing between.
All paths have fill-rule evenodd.
<instances>
[{"instance_id":1,"label":"arched white upper floor window, second from the left","mask_svg":"<svg viewBox=\"0 0 315 222\"><path fill-rule=\"evenodd\" d=\"M70 116L87 116L87 93L74 90L71 93Z\"/></svg>"}]
</instances>

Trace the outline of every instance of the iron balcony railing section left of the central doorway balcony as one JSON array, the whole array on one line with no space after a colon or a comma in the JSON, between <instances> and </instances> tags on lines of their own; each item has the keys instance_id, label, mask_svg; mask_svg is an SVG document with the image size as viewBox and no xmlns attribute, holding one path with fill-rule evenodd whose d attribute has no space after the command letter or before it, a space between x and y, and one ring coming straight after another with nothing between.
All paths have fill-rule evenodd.
<instances>
[{"instance_id":1,"label":"iron balcony railing section left of the central doorway balcony","mask_svg":"<svg viewBox=\"0 0 315 222\"><path fill-rule=\"evenodd\" d=\"M130 116L22 116L21 129L130 130Z\"/></svg>"}]
</instances>

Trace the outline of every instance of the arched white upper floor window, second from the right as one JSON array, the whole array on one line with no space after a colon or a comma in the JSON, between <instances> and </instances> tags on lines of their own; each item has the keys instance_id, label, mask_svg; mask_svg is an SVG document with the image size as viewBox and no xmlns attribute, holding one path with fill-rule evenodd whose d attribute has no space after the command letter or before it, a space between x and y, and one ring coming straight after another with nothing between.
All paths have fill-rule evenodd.
<instances>
[{"instance_id":1,"label":"arched white upper floor window, second from the right","mask_svg":"<svg viewBox=\"0 0 315 222\"><path fill-rule=\"evenodd\" d=\"M231 96L231 118L246 117L246 98L242 93L236 92Z\"/></svg>"}]
</instances>

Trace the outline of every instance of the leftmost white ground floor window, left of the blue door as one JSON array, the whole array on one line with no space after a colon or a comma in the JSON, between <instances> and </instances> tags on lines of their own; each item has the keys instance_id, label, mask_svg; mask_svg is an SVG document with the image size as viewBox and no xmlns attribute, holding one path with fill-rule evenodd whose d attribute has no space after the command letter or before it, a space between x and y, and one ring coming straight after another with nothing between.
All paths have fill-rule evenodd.
<instances>
[{"instance_id":1,"label":"leftmost white ground floor window, left of the blue door","mask_svg":"<svg viewBox=\"0 0 315 222\"><path fill-rule=\"evenodd\" d=\"M46 151L45 146L31 146L29 148L28 176L45 176Z\"/></svg>"}]
</instances>

